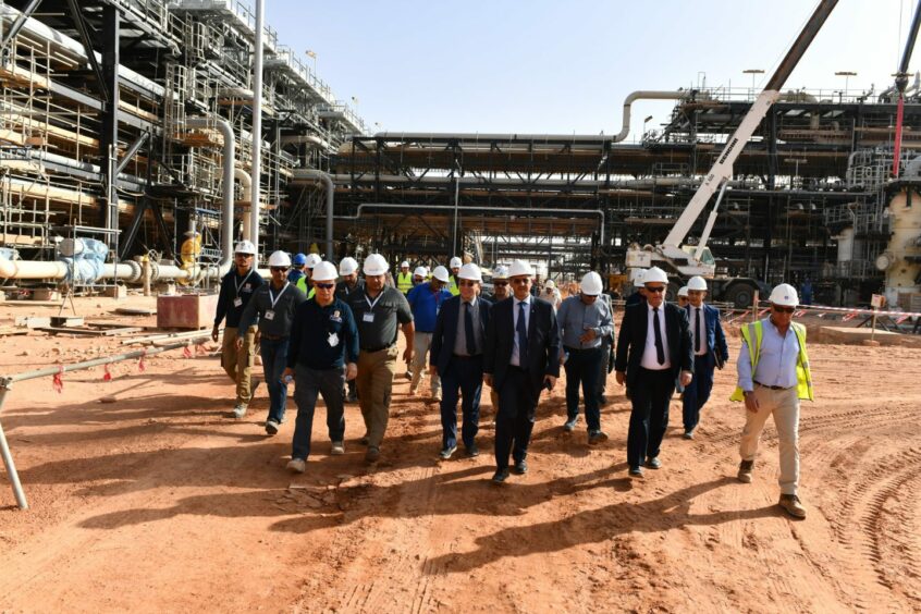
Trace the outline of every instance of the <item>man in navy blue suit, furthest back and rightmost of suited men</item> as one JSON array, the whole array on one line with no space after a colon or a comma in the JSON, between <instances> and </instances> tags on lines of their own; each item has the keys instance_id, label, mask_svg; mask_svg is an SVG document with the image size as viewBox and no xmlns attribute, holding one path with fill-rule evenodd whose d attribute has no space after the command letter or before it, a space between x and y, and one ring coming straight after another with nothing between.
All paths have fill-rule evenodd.
<instances>
[{"instance_id":1,"label":"man in navy blue suit, furthest back and rightmost of suited men","mask_svg":"<svg viewBox=\"0 0 921 614\"><path fill-rule=\"evenodd\" d=\"M691 346L693 348L693 380L685 386L681 397L685 439L693 439L693 431L700 422L700 410L713 390L713 369L723 368L729 359L726 335L720 323L720 310L703 303L707 296L707 281L699 275L688 281L688 312Z\"/></svg>"}]
</instances>

